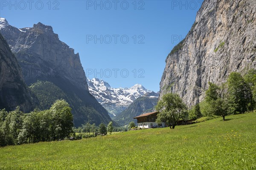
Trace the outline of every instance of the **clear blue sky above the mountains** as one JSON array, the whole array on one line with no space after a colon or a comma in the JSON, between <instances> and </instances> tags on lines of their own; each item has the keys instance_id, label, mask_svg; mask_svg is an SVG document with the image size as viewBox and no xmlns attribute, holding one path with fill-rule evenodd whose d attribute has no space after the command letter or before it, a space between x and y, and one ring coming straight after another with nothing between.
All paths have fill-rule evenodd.
<instances>
[{"instance_id":1,"label":"clear blue sky above the mountains","mask_svg":"<svg viewBox=\"0 0 256 170\"><path fill-rule=\"evenodd\" d=\"M186 37L203 0L0 0L17 28L41 22L79 53L86 76L111 87L159 91L165 59Z\"/></svg>"}]
</instances>

